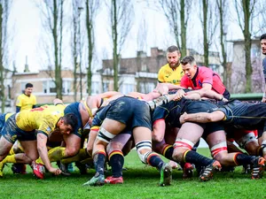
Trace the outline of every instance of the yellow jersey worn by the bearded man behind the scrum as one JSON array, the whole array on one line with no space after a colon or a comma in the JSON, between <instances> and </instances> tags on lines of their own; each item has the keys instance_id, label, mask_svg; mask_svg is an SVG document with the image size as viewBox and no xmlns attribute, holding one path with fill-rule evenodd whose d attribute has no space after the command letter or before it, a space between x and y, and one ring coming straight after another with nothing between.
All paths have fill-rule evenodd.
<instances>
[{"instance_id":1,"label":"yellow jersey worn by the bearded man behind the scrum","mask_svg":"<svg viewBox=\"0 0 266 199\"><path fill-rule=\"evenodd\" d=\"M180 85L181 79L184 76L181 65L176 67L176 70L173 70L168 64L163 65L160 68L158 73L158 81L160 83L171 83L175 85Z\"/></svg>"}]
</instances>

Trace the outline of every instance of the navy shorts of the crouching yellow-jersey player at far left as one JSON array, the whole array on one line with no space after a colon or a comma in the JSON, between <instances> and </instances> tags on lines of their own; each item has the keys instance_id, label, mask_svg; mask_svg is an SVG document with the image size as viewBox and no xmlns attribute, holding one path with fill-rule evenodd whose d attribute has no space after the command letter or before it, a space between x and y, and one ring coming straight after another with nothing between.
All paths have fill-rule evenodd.
<instances>
[{"instance_id":1,"label":"navy shorts of the crouching yellow-jersey player at far left","mask_svg":"<svg viewBox=\"0 0 266 199\"><path fill-rule=\"evenodd\" d=\"M2 136L12 144L19 141L35 141L36 135L35 130L23 131L16 124L16 114L13 114L9 119L6 120L4 127L1 131Z\"/></svg>"}]
</instances>

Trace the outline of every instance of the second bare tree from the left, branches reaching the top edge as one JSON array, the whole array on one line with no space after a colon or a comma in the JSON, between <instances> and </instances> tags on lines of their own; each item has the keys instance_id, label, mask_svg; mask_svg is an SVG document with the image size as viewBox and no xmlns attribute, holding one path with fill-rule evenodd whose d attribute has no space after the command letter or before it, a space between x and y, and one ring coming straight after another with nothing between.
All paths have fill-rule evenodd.
<instances>
[{"instance_id":1,"label":"second bare tree from the left, branches reaching the top edge","mask_svg":"<svg viewBox=\"0 0 266 199\"><path fill-rule=\"evenodd\" d=\"M43 0L37 1L37 7L42 12L43 28L51 39L52 54L48 52L49 59L53 62L55 73L57 97L62 98L62 40L63 40L63 17L65 0ZM46 49L49 50L50 49ZM51 56L51 57L50 57Z\"/></svg>"}]
</instances>

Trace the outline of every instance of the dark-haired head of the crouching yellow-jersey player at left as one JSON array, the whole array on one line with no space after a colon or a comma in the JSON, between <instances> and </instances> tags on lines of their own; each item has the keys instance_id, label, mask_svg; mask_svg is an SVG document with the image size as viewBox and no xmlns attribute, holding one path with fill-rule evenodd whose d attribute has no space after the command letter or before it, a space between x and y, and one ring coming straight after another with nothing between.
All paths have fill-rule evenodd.
<instances>
[{"instance_id":1,"label":"dark-haired head of the crouching yellow-jersey player at left","mask_svg":"<svg viewBox=\"0 0 266 199\"><path fill-rule=\"evenodd\" d=\"M59 119L58 125L61 134L71 134L77 126L77 117L74 113L67 113Z\"/></svg>"}]
</instances>

